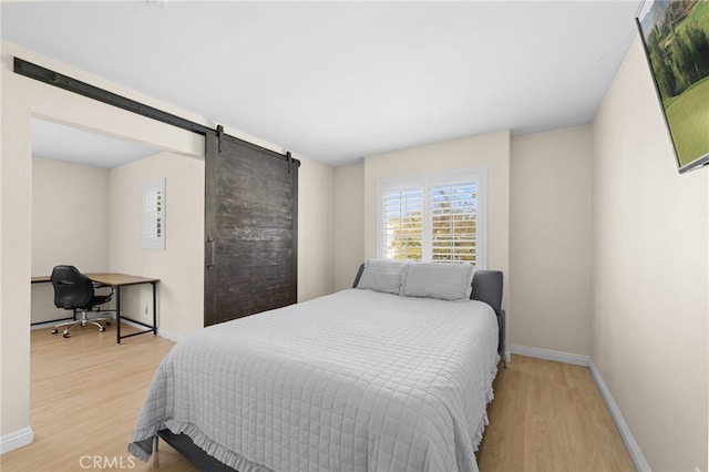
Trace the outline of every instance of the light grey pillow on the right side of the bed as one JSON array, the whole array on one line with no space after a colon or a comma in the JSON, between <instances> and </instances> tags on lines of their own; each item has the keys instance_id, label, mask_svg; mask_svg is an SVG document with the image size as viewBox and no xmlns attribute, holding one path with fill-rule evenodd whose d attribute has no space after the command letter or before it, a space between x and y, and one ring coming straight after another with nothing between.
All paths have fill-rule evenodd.
<instances>
[{"instance_id":1,"label":"light grey pillow on the right side of the bed","mask_svg":"<svg viewBox=\"0 0 709 472\"><path fill-rule=\"evenodd\" d=\"M443 300L470 299L475 267L470 264L411 263L401 295Z\"/></svg>"}]
</instances>

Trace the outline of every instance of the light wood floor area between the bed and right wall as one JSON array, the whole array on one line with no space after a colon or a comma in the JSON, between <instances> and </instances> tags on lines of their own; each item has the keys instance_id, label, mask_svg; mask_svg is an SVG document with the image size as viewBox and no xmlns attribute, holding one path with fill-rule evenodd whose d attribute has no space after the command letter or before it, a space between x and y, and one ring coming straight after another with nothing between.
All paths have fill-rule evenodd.
<instances>
[{"instance_id":1,"label":"light wood floor area between the bed and right wall","mask_svg":"<svg viewBox=\"0 0 709 472\"><path fill-rule=\"evenodd\" d=\"M587 368L513 356L494 391L481 471L635 471Z\"/></svg>"}]
</instances>

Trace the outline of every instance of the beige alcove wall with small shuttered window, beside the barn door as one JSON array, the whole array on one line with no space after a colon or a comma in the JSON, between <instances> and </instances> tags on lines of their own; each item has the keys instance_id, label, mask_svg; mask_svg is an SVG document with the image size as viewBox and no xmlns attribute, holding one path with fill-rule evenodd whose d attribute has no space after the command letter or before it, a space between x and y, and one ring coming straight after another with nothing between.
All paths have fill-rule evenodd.
<instances>
[{"instance_id":1,"label":"beige alcove wall with small shuttered window, beside the barn door","mask_svg":"<svg viewBox=\"0 0 709 472\"><path fill-rule=\"evenodd\" d=\"M143 249L143 182L162 177L165 250ZM204 326L204 161L161 153L112 170L109 214L111 271L161 280L158 334L179 340ZM150 285L124 289L122 301L125 316L152 322Z\"/></svg>"}]
</instances>

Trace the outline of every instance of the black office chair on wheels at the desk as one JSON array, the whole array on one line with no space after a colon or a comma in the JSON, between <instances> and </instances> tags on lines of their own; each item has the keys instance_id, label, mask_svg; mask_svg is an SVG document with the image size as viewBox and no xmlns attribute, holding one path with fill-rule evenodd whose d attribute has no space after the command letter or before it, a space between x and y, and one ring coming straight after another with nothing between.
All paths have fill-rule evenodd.
<instances>
[{"instance_id":1,"label":"black office chair on wheels at the desk","mask_svg":"<svg viewBox=\"0 0 709 472\"><path fill-rule=\"evenodd\" d=\"M64 338L69 338L69 330L74 326L92 324L99 327L99 331L105 331L106 329L99 321L104 321L107 326L111 326L113 318L100 317L90 319L88 311L110 301L111 297L113 297L113 287L94 284L74 266L54 267L51 279L54 287L54 305L56 308L74 311L74 320L56 325L52 330L52 335L56 335L59 328L64 326L66 327L63 332ZM100 287L110 287L111 293L109 295L95 295L94 288ZM76 310L81 310L80 319L76 319Z\"/></svg>"}]
</instances>

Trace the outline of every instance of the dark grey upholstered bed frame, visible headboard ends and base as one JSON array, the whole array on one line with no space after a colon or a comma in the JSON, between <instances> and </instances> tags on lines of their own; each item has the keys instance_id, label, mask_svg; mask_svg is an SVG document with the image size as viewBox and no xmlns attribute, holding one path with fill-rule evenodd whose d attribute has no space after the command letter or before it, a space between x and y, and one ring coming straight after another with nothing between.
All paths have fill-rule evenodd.
<instances>
[{"instance_id":1,"label":"dark grey upholstered bed frame, visible headboard ends and base","mask_svg":"<svg viewBox=\"0 0 709 472\"><path fill-rule=\"evenodd\" d=\"M359 279L364 270L364 264L360 265L354 277L352 288L356 288L359 284ZM473 276L473 290L470 295L472 300L484 301L490 305L497 316L497 327L500 328L500 338L497 341L497 353L500 355L503 365L505 358L505 310L502 309L502 289L503 289L503 275L500 270L475 270ZM235 470L217 461L212 455L207 454L202 448L195 445L192 439L184 433L175 434L168 429L160 430L157 435L163 439L167 444L175 449L189 462L195 464L199 470L209 472L234 472ZM154 450L157 452L158 440L155 438ZM237 471L238 472L238 471Z\"/></svg>"}]
</instances>

